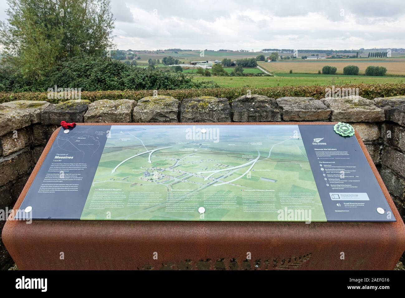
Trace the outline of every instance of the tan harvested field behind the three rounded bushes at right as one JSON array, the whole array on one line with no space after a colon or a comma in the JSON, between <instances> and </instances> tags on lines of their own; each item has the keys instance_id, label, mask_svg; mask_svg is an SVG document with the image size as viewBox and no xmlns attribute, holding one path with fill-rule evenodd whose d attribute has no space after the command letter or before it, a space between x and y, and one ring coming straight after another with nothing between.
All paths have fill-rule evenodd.
<instances>
[{"instance_id":1,"label":"tan harvested field behind the three rounded bushes at right","mask_svg":"<svg viewBox=\"0 0 405 298\"><path fill-rule=\"evenodd\" d=\"M388 75L405 75L404 58L383 58L383 59L322 59L322 60L296 60L296 61L276 61L259 62L259 66L278 75L278 73L318 73L325 65L335 66L337 73L343 73L343 67L356 65L360 69L360 74L364 74L367 66L384 66Z\"/></svg>"}]
</instances>

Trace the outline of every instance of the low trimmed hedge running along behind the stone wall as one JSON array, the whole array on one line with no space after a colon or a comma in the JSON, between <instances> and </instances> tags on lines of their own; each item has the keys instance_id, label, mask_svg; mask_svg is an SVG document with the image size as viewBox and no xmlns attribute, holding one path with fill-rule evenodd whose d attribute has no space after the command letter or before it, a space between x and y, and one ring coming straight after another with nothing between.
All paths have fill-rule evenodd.
<instances>
[{"instance_id":1,"label":"low trimmed hedge running along behind the stone wall","mask_svg":"<svg viewBox=\"0 0 405 298\"><path fill-rule=\"evenodd\" d=\"M331 86L283 86L267 88L210 88L210 89L178 89L178 90L159 90L159 95L173 96L176 99L185 99L197 96L215 96L226 97L229 100L247 93L251 90L252 94L262 94L275 99L283 96L305 96L322 99L325 97L325 88ZM359 88L359 95L374 99L375 97L387 97L405 95L405 83L401 84L347 84L335 86L336 88ZM124 91L82 91L81 99L97 101L100 99L134 99L139 100L145 96L153 95L152 90L124 90ZM0 92L0 103L17 100L36 100L49 101L57 103L65 99L47 98L47 92Z\"/></svg>"}]
</instances>

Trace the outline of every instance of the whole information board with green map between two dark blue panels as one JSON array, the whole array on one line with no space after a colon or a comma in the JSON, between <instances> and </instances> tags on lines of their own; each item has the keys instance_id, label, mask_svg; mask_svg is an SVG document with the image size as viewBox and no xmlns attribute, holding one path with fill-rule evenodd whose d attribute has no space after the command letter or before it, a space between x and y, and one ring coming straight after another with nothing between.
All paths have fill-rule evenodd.
<instances>
[{"instance_id":1,"label":"whole information board with green map between two dark blue panels","mask_svg":"<svg viewBox=\"0 0 405 298\"><path fill-rule=\"evenodd\" d=\"M395 221L333 124L60 129L21 204L33 219Z\"/></svg>"}]
</instances>

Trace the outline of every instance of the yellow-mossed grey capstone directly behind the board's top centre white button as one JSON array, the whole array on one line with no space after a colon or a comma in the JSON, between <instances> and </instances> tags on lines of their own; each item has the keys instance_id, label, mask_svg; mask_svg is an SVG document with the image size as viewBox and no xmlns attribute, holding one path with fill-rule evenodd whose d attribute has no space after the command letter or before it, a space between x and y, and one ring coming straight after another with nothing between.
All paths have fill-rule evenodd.
<instances>
[{"instance_id":1,"label":"yellow-mossed grey capstone directly behind the board's top centre white button","mask_svg":"<svg viewBox=\"0 0 405 298\"><path fill-rule=\"evenodd\" d=\"M226 98L200 96L183 99L181 122L231 122L231 108Z\"/></svg>"}]
</instances>

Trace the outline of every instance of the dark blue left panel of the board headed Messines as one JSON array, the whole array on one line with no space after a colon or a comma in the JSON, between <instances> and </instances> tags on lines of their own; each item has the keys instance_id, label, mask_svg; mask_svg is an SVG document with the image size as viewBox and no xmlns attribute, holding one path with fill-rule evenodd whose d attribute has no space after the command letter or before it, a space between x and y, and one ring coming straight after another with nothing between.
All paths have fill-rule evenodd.
<instances>
[{"instance_id":1,"label":"dark blue left panel of the board headed Messines","mask_svg":"<svg viewBox=\"0 0 405 298\"><path fill-rule=\"evenodd\" d=\"M20 210L31 206L34 219L80 219L110 128L61 128Z\"/></svg>"}]
</instances>

